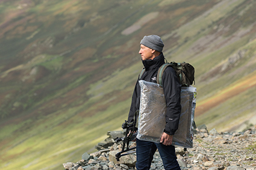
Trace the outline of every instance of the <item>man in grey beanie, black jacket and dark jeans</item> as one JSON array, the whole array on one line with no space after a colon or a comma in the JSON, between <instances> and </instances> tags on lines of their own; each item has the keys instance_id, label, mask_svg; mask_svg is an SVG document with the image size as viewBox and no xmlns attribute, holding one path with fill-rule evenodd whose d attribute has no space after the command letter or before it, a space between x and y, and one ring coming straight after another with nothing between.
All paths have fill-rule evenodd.
<instances>
[{"instance_id":1,"label":"man in grey beanie, black jacket and dark jeans","mask_svg":"<svg viewBox=\"0 0 256 170\"><path fill-rule=\"evenodd\" d=\"M134 113L140 107L140 85L139 80L157 83L158 68L164 64L164 55L162 53L164 44L158 35L149 35L143 37L140 41L139 54L142 56L142 63L145 72L137 80L136 87L131 102L131 109L128 115L128 122L134 121ZM158 149L165 169L180 169L175 155L175 147L172 144L172 137L178 129L178 123L181 112L180 93L181 84L178 82L175 70L167 67L163 73L163 91L166 98L166 126L161 136L160 144L136 139L136 154L138 170L149 169L155 151Z\"/></svg>"}]
</instances>

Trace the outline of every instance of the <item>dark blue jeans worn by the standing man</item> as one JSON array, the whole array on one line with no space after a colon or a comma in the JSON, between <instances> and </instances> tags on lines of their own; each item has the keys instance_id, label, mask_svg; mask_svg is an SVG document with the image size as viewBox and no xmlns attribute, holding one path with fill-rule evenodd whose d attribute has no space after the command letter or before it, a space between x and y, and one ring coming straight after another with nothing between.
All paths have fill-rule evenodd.
<instances>
[{"instance_id":1,"label":"dark blue jeans worn by the standing man","mask_svg":"<svg viewBox=\"0 0 256 170\"><path fill-rule=\"evenodd\" d=\"M175 147L172 145L166 146L155 142L141 141L139 139L136 139L136 144L136 168L138 170L150 169L151 161L157 149L163 160L164 169L180 170L180 165L176 160Z\"/></svg>"}]
</instances>

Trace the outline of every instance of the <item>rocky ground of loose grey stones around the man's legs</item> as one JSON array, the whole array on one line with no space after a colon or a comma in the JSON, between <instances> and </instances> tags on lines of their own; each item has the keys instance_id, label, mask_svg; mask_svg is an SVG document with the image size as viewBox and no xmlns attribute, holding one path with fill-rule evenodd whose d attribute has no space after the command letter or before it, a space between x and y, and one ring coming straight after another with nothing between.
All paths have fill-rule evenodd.
<instances>
[{"instance_id":1,"label":"rocky ground of loose grey stones around the man's legs","mask_svg":"<svg viewBox=\"0 0 256 170\"><path fill-rule=\"evenodd\" d=\"M128 154L116 161L115 155L122 149L122 142L114 142L117 137L122 137L122 132L108 132L109 138L104 143L95 146L97 152L84 153L82 160L72 163L63 163L65 169L136 169L136 154ZM131 147L136 145L130 142ZM221 132L215 129L208 132L202 126L196 129L193 148L176 147L176 156L181 169L210 169L210 170L235 170L254 169L256 170L256 130L249 129L245 132ZM161 157L155 153L151 169L164 169Z\"/></svg>"}]
</instances>

